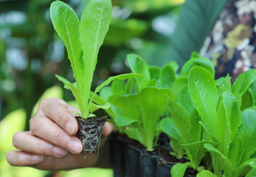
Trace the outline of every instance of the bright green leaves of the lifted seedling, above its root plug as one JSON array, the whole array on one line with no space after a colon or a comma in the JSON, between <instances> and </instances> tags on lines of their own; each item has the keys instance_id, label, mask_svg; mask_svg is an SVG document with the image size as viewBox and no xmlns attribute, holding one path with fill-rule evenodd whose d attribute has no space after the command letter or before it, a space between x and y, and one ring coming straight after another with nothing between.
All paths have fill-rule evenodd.
<instances>
[{"instance_id":1,"label":"bright green leaves of the lifted seedling, above its root plug","mask_svg":"<svg viewBox=\"0 0 256 177\"><path fill-rule=\"evenodd\" d=\"M125 80L138 74L121 74L109 77L91 94L91 82L97 64L97 54L103 44L111 21L112 7L110 0L91 0L79 20L74 10L62 1L54 1L50 7L52 24L62 38L74 72L75 83L70 83L63 77L58 77L70 89L79 105L81 117L94 116L98 108L109 108L110 104L97 105L94 97L103 86L112 80Z\"/></svg>"}]
</instances>

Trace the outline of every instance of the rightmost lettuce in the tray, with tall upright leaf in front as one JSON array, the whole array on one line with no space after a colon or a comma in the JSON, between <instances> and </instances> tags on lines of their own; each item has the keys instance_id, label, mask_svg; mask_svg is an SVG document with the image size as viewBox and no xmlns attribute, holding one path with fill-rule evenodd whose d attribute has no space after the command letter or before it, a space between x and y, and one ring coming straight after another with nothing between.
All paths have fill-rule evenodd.
<instances>
[{"instance_id":1,"label":"rightmost lettuce in the tray, with tall upright leaf in front","mask_svg":"<svg viewBox=\"0 0 256 177\"><path fill-rule=\"evenodd\" d=\"M256 69L241 74L232 87L226 79L229 76L216 84L210 75L207 69L195 66L188 78L193 105L207 132L204 139L215 142L204 144L211 153L214 174L255 175L256 111L255 102L249 100L255 95Z\"/></svg>"}]
</instances>

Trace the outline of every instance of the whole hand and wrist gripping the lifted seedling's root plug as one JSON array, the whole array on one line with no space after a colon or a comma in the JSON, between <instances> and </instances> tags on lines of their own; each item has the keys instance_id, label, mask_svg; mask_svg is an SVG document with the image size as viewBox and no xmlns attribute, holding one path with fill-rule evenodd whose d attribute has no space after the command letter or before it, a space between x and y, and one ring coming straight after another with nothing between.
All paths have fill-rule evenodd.
<instances>
[{"instance_id":1,"label":"whole hand and wrist gripping the lifted seedling's root plug","mask_svg":"<svg viewBox=\"0 0 256 177\"><path fill-rule=\"evenodd\" d=\"M41 170L69 170L82 167L111 167L105 136L112 131L106 122L103 128L100 154L91 153L84 159L82 142L75 136L78 125L72 108L63 100L48 98L41 101L35 116L30 119L30 131L13 135L18 150L7 153L13 166L29 166Z\"/></svg>"}]
</instances>

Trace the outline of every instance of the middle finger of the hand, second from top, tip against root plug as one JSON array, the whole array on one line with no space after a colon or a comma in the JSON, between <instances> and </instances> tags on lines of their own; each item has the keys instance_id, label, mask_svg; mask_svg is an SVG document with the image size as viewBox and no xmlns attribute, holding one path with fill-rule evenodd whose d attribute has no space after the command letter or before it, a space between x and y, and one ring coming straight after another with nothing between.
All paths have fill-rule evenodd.
<instances>
[{"instance_id":1,"label":"middle finger of the hand, second from top, tip against root plug","mask_svg":"<svg viewBox=\"0 0 256 177\"><path fill-rule=\"evenodd\" d=\"M71 153L80 153L82 142L75 136L69 136L62 128L46 117L35 117L30 122L30 131L52 145L62 147Z\"/></svg>"}]
</instances>

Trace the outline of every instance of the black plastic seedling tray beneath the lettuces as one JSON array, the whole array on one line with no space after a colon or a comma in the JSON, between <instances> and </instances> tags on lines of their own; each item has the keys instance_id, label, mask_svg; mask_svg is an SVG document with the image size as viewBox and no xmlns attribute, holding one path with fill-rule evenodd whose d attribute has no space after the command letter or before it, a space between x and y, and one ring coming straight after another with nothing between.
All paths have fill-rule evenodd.
<instances>
[{"instance_id":1,"label":"black plastic seedling tray beneath the lettuces","mask_svg":"<svg viewBox=\"0 0 256 177\"><path fill-rule=\"evenodd\" d=\"M108 139L114 177L170 177L170 169L175 162L167 158L170 157L170 154L166 153L169 150L159 148L149 152L138 146L136 141L120 133L112 133ZM195 177L196 173L187 170L184 176Z\"/></svg>"}]
</instances>

